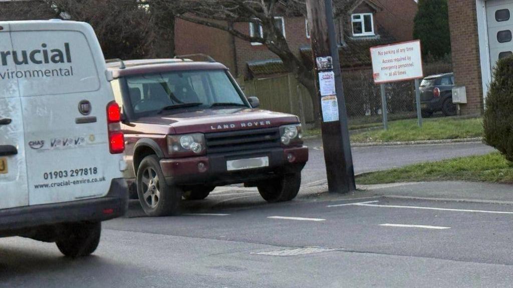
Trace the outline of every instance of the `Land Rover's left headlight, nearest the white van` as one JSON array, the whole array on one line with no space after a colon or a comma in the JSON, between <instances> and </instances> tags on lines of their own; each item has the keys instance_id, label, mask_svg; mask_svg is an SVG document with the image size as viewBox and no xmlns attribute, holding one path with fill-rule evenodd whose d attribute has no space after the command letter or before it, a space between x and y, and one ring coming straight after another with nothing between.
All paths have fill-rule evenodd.
<instances>
[{"instance_id":1,"label":"Land Rover's left headlight, nearest the white van","mask_svg":"<svg viewBox=\"0 0 513 288\"><path fill-rule=\"evenodd\" d=\"M168 151L171 156L187 157L205 153L205 135L201 133L187 135L168 135Z\"/></svg>"}]
</instances>

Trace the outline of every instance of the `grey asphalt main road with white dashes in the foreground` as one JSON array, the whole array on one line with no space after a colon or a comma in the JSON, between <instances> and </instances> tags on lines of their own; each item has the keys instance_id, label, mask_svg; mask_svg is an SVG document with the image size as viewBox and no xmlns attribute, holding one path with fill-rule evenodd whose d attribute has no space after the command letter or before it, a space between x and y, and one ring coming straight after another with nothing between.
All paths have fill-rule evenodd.
<instances>
[{"instance_id":1,"label":"grey asphalt main road with white dashes in the foreground","mask_svg":"<svg viewBox=\"0 0 513 288\"><path fill-rule=\"evenodd\" d=\"M511 205L380 197L189 212L108 221L95 255L75 261L53 244L3 239L0 286L510 287L513 280Z\"/></svg>"}]
</instances>

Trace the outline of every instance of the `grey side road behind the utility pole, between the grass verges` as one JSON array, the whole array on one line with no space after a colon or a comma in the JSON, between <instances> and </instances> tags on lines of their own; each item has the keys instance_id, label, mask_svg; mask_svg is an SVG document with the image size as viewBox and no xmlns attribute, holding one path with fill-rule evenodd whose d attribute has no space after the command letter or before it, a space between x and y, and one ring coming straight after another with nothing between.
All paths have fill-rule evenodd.
<instances>
[{"instance_id":1,"label":"grey side road behind the utility pole, between the grass verges","mask_svg":"<svg viewBox=\"0 0 513 288\"><path fill-rule=\"evenodd\" d=\"M308 139L310 148L308 163L303 170L303 183L326 179L324 153L320 139ZM494 151L482 143L450 143L436 145L404 145L353 147L352 155L355 173L391 169L426 161L481 155Z\"/></svg>"}]
</instances>

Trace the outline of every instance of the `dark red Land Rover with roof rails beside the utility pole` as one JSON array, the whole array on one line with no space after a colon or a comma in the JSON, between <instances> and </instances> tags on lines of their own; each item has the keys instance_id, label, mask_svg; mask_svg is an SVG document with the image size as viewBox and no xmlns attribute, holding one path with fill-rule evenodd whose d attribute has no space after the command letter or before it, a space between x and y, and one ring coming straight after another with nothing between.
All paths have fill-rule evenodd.
<instances>
[{"instance_id":1,"label":"dark red Land Rover with roof rails beside the utility pole","mask_svg":"<svg viewBox=\"0 0 513 288\"><path fill-rule=\"evenodd\" d=\"M149 216L180 213L182 197L258 187L269 202L299 192L308 160L297 116L257 109L228 69L189 59L108 61L123 111L128 166Z\"/></svg>"}]
</instances>

